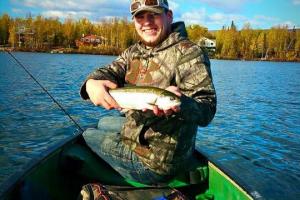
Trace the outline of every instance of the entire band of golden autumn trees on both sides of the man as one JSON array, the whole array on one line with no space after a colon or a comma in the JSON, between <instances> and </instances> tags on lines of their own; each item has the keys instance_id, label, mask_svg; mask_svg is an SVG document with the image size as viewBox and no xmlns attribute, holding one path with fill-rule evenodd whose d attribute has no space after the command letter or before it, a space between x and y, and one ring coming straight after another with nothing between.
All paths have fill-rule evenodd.
<instances>
[{"instance_id":1,"label":"entire band of golden autumn trees on both sides of the man","mask_svg":"<svg viewBox=\"0 0 300 200\"><path fill-rule=\"evenodd\" d=\"M218 31L208 31L201 25L187 26L189 38L199 43L202 37L216 41L213 51L219 59L300 61L300 30L277 26L268 30L252 29L245 24L238 30L234 22ZM101 45L76 48L82 35L94 34L105 38ZM83 18L45 18L43 16L0 17L0 45L19 50L49 51L55 48L71 52L119 54L138 40L134 25L127 18L103 19L92 23Z\"/></svg>"}]
</instances>

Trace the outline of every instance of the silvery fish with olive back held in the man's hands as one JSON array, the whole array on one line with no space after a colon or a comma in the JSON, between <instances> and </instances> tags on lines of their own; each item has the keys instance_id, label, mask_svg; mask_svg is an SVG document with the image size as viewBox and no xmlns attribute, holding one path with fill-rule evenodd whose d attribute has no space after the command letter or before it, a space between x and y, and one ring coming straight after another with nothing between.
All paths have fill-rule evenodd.
<instances>
[{"instance_id":1,"label":"silvery fish with olive back held in the man's hands","mask_svg":"<svg viewBox=\"0 0 300 200\"><path fill-rule=\"evenodd\" d=\"M109 90L110 95L124 110L153 110L157 106L168 110L180 106L180 98L165 89L150 86L129 86Z\"/></svg>"}]
</instances>

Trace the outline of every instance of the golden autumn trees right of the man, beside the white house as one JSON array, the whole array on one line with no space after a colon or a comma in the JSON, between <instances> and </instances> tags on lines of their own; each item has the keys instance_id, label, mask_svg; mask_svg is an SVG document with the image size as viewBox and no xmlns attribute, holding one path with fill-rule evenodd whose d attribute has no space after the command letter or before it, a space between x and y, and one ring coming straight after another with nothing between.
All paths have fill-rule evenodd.
<instances>
[{"instance_id":1,"label":"golden autumn trees right of the man, beside the white house","mask_svg":"<svg viewBox=\"0 0 300 200\"><path fill-rule=\"evenodd\" d=\"M187 31L194 42L201 37L215 40L214 57L218 59L300 61L300 29L282 25L259 30L247 23L237 30L232 21L214 32L200 25L188 26Z\"/></svg>"}]
</instances>

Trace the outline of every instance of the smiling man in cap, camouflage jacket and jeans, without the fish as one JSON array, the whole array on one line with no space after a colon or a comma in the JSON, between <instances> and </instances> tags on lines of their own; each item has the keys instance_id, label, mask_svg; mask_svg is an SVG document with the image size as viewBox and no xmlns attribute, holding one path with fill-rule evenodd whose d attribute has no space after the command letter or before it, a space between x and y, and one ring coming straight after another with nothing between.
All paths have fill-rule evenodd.
<instances>
[{"instance_id":1,"label":"smiling man in cap, camouflage jacket and jeans, without the fish","mask_svg":"<svg viewBox=\"0 0 300 200\"><path fill-rule=\"evenodd\" d=\"M172 23L167 0L132 0L130 11L140 41L91 73L81 88L82 98L118 109L108 90L131 84L169 90L180 97L181 106L130 110L125 120L104 118L99 129L88 129L84 138L123 177L146 184L166 182L190 170L197 127L215 115L210 62L187 39L184 23ZM109 130L101 127L105 123Z\"/></svg>"}]
</instances>

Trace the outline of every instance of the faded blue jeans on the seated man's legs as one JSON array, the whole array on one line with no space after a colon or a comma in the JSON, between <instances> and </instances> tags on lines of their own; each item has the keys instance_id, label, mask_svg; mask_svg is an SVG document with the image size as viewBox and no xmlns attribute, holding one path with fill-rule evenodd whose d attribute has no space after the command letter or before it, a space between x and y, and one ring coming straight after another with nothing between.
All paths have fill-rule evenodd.
<instances>
[{"instance_id":1,"label":"faded blue jeans on the seated man's legs","mask_svg":"<svg viewBox=\"0 0 300 200\"><path fill-rule=\"evenodd\" d=\"M126 179L144 184L157 184L170 177L148 169L136 154L122 142L120 130L125 117L106 116L100 119L97 128L89 128L83 133L88 146Z\"/></svg>"}]
</instances>

